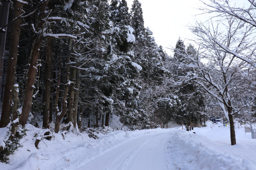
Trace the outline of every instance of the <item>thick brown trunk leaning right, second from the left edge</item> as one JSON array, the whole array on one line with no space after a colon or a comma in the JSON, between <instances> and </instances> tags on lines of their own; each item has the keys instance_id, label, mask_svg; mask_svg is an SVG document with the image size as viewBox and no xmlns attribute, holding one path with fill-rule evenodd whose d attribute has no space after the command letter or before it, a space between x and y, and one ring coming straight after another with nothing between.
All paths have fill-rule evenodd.
<instances>
[{"instance_id":1,"label":"thick brown trunk leaning right, second from the left edge","mask_svg":"<svg viewBox=\"0 0 256 170\"><path fill-rule=\"evenodd\" d=\"M5 1L4 1L5 3ZM8 2L9 3L9 2ZM4 5L4 4L3 4ZM3 6L3 8L7 8L7 6ZM22 14L23 3L15 0L14 3L14 18L18 17ZM2 12L4 12L3 10ZM9 5L8 9L9 11ZM8 18L8 16L7 16ZM20 40L20 24L22 18L17 19L12 25L12 37L10 42L10 50L9 50L9 57L8 57L8 66L6 71L6 84L5 84L5 91L3 96L3 108L2 108L2 116L0 120L0 127L6 127L10 122L11 117L11 110L12 110L12 97L13 97L13 86L15 85L15 74L16 74L16 63L17 63L17 54L18 54L18 45ZM2 23L2 21L0 21ZM7 24L7 23L6 23ZM5 24L5 25L6 25ZM1 26L0 26L1 27ZM0 31L0 38L3 35L3 32ZM5 43L5 42L4 42ZM0 46L2 46L1 44ZM1 48L1 47L0 47ZM3 49L4 51L4 49ZM1 54L0 54L1 55ZM3 56L0 56L0 60L3 60ZM2 66L0 62L0 72L2 72ZM2 85L2 73L0 73L0 87Z\"/></svg>"}]
</instances>

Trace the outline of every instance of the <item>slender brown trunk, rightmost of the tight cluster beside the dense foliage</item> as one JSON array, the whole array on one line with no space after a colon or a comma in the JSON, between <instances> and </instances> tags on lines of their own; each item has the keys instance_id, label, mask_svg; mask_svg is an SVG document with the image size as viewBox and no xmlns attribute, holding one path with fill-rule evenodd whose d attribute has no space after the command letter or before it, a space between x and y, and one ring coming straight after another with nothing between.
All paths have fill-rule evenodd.
<instances>
[{"instance_id":1,"label":"slender brown trunk, rightmost of the tight cluster beside the dense foliage","mask_svg":"<svg viewBox=\"0 0 256 170\"><path fill-rule=\"evenodd\" d=\"M75 96L74 96L74 113L73 113L73 125L76 126L76 120L78 115L78 102L79 102L79 89L80 89L80 83L81 79L79 77L80 70L76 70L76 89L75 89Z\"/></svg>"}]
</instances>

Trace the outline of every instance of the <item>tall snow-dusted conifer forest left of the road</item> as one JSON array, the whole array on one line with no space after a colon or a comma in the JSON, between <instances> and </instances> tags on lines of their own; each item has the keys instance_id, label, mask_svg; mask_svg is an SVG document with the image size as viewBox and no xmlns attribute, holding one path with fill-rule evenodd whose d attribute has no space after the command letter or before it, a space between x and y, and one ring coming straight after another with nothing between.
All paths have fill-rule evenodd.
<instances>
[{"instance_id":1,"label":"tall snow-dusted conifer forest left of the road","mask_svg":"<svg viewBox=\"0 0 256 170\"><path fill-rule=\"evenodd\" d=\"M131 129L175 118L178 99L165 88L169 57L144 27L138 0L131 12L125 0L22 2L10 4L14 21L12 28L7 25L11 79L0 127L9 130L1 155L21 147L27 123L59 133L66 125L73 132L109 126L112 115Z\"/></svg>"}]
</instances>

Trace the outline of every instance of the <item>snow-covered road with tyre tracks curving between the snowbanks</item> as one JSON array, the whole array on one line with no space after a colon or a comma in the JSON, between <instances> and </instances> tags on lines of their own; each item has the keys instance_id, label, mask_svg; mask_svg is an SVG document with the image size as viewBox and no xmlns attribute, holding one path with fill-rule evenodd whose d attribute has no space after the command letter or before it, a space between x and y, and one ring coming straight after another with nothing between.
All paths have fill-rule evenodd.
<instances>
[{"instance_id":1,"label":"snow-covered road with tyre tracks curving between the snowbanks","mask_svg":"<svg viewBox=\"0 0 256 170\"><path fill-rule=\"evenodd\" d=\"M170 132L140 136L93 157L77 170L168 170L165 151L170 137Z\"/></svg>"}]
</instances>

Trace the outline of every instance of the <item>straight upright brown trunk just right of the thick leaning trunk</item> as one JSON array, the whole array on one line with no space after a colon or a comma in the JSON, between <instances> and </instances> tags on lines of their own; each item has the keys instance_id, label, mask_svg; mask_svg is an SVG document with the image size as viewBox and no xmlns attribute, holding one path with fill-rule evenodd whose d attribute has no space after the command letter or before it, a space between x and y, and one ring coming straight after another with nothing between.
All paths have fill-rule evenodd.
<instances>
[{"instance_id":1,"label":"straight upright brown trunk just right of the thick leaning trunk","mask_svg":"<svg viewBox=\"0 0 256 170\"><path fill-rule=\"evenodd\" d=\"M52 73L52 39L47 38L47 49L45 59L44 73L44 94L43 94L43 127L49 129L49 106L50 106L50 88L51 88L51 73Z\"/></svg>"}]
</instances>

